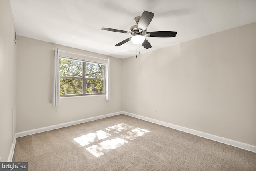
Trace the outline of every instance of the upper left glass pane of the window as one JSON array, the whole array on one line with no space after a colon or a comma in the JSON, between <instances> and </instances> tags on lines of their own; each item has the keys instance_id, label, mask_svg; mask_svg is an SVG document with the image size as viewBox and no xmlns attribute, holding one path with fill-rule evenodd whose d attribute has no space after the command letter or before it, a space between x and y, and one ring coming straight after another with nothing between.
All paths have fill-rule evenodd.
<instances>
[{"instance_id":1,"label":"upper left glass pane of the window","mask_svg":"<svg viewBox=\"0 0 256 171\"><path fill-rule=\"evenodd\" d=\"M60 59L60 76L82 77L83 62Z\"/></svg>"}]
</instances>

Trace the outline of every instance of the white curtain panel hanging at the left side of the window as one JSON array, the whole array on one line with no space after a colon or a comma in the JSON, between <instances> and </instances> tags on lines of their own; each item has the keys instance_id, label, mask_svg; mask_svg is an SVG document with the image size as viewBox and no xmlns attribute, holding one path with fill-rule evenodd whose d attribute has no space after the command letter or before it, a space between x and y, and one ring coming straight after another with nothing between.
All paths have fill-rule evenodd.
<instances>
[{"instance_id":1,"label":"white curtain panel hanging at the left side of the window","mask_svg":"<svg viewBox=\"0 0 256 171\"><path fill-rule=\"evenodd\" d=\"M59 66L59 49L55 48L55 62L54 62L54 81L53 81L53 96L52 105L60 105L60 66Z\"/></svg>"}]
</instances>

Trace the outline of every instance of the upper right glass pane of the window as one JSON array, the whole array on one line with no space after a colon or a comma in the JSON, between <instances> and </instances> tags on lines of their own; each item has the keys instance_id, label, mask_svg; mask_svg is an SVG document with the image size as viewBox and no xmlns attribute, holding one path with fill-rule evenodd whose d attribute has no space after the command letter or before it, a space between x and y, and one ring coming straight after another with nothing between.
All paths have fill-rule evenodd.
<instances>
[{"instance_id":1,"label":"upper right glass pane of the window","mask_svg":"<svg viewBox=\"0 0 256 171\"><path fill-rule=\"evenodd\" d=\"M86 72L85 77L86 78L104 78L103 72L104 72L104 65L100 64L92 64L86 62Z\"/></svg>"}]
</instances>

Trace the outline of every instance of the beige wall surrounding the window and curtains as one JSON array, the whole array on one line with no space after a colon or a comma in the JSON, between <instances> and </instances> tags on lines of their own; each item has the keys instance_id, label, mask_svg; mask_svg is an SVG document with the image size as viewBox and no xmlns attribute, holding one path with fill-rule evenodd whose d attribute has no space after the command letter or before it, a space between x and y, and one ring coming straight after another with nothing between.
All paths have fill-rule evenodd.
<instances>
[{"instance_id":1,"label":"beige wall surrounding the window and curtains","mask_svg":"<svg viewBox=\"0 0 256 171\"><path fill-rule=\"evenodd\" d=\"M54 50L111 58L111 100L61 98L52 106ZM16 132L122 111L122 59L18 36ZM57 110L57 111L56 111Z\"/></svg>"}]
</instances>

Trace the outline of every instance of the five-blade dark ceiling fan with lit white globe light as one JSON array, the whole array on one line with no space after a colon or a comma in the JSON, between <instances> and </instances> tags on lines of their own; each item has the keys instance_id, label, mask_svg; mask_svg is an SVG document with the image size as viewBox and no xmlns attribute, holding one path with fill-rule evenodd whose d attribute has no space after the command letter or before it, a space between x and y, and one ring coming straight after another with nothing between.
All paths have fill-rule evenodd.
<instances>
[{"instance_id":1,"label":"five-blade dark ceiling fan with lit white globe light","mask_svg":"<svg viewBox=\"0 0 256 171\"><path fill-rule=\"evenodd\" d=\"M170 37L175 37L177 32L172 32L172 31L157 31L157 32L147 32L147 27L150 24L152 18L154 17L154 13L144 11L140 17L135 17L134 22L136 25L132 26L130 30L124 31L124 30L117 30L113 28L105 28L102 27L101 30L107 30L107 31L112 31L112 32L120 32L120 33L126 33L126 34L131 34L132 37L123 40L122 42L119 42L115 46L120 46L130 40L134 44L142 44L142 46L146 49L151 48L151 44L146 40L145 36L148 37L161 37L161 38L170 38Z\"/></svg>"}]
</instances>

